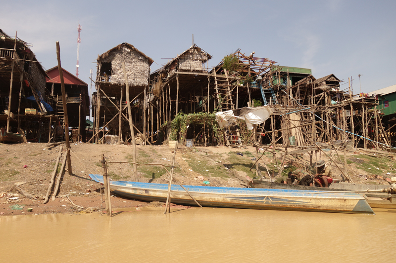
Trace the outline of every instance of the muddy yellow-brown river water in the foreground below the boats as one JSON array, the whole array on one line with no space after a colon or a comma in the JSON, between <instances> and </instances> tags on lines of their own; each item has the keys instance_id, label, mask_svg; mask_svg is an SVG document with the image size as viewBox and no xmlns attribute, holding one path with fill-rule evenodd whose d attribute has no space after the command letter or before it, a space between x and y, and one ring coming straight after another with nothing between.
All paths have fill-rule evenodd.
<instances>
[{"instance_id":1,"label":"muddy yellow-brown river water in the foreground below the boats","mask_svg":"<svg viewBox=\"0 0 396 263\"><path fill-rule=\"evenodd\" d=\"M392 262L396 213L190 208L0 217L1 262Z\"/></svg>"}]
</instances>

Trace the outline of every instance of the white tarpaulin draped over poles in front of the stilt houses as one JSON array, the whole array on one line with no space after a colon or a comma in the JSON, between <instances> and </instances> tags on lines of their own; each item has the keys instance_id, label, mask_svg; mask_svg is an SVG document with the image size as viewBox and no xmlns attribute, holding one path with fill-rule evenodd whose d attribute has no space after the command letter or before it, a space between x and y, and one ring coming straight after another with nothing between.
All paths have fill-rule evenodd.
<instances>
[{"instance_id":1,"label":"white tarpaulin draped over poles in front of the stilt houses","mask_svg":"<svg viewBox=\"0 0 396 263\"><path fill-rule=\"evenodd\" d=\"M220 128L224 128L230 125L236 118L244 119L246 121L247 128L253 129L252 124L264 123L269 116L273 113L270 107L264 106L261 108L242 108L237 110L230 110L226 112L216 113L216 120L220 125Z\"/></svg>"}]
</instances>

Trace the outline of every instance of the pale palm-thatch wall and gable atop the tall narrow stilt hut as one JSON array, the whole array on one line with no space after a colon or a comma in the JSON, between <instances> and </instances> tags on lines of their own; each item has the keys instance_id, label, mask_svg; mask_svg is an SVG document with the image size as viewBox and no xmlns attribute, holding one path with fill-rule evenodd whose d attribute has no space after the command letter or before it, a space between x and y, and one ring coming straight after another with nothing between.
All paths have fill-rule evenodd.
<instances>
[{"instance_id":1,"label":"pale palm-thatch wall and gable atop the tall narrow stilt hut","mask_svg":"<svg viewBox=\"0 0 396 263\"><path fill-rule=\"evenodd\" d=\"M122 62L125 62L128 82L130 86L147 86L150 74L150 65L153 60L140 52L133 45L122 43L98 57L99 69L103 63L111 63L109 81L112 85L125 84ZM98 73L99 76L102 72Z\"/></svg>"}]
</instances>

